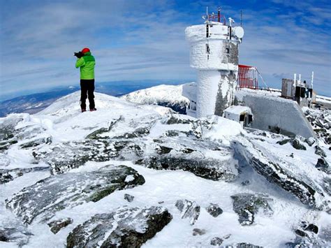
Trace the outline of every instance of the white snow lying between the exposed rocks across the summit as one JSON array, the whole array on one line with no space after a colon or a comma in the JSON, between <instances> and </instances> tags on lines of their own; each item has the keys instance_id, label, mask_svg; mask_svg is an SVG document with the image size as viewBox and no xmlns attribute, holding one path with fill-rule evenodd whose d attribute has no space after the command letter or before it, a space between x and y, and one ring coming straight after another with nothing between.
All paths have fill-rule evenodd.
<instances>
[{"instance_id":1,"label":"white snow lying between the exposed rocks across the summit","mask_svg":"<svg viewBox=\"0 0 331 248\"><path fill-rule=\"evenodd\" d=\"M214 86L211 85L209 89L200 89L200 97L209 97L208 94L211 94L216 89ZM160 91L155 91L154 87L153 90L146 90L143 93L139 92L139 94L132 94L131 96L134 96L135 101L140 103L159 101L159 99L182 101L182 99L177 97L177 93L181 92L182 87L173 87L174 91L170 90L168 96L168 87L162 86L156 89L160 89ZM158 94L154 95L155 92L158 92ZM172 114L172 110L169 108L131 103L125 101L125 97L124 99L118 99L105 94L96 93L95 95L96 108L98 108L96 112L80 112L78 102L80 93L75 92L59 99L36 115L10 115L7 118L1 118L0 124L3 124L3 122L14 116L21 117L22 121L15 125L15 129L29 128L27 130L34 137L26 136L19 143L12 145L6 152L0 153L0 169L47 166L43 162L36 164L36 160L31 155L34 147L29 149L20 148L20 144L31 140L31 138L36 138L37 135L51 136L53 144L84 140L89 133L103 127L108 128L110 122L122 118L124 121L117 124L118 129L110 131L108 134L118 136L125 132L133 131L133 124L137 126L151 124L152 129L145 140L148 143L151 139L163 136L166 131L188 131L187 126L190 126L190 124L164 124L162 122L163 117ZM156 122L151 123L150 120L152 118L156 119ZM188 116L182 116L182 118L191 121L196 120ZM211 123L210 129L202 129L201 139L203 140L214 140L214 142L230 147L231 143L238 138L246 138L251 140L254 145L260 147L260 149L264 149L270 156L290 162L294 166L288 167L288 169L293 173L297 173L297 175L307 175L316 183L327 177L325 173L321 173L314 168L319 157L314 154L314 147L309 147L305 144L307 151L302 151L294 149L289 143L281 146L277 144L277 141L282 140L284 136L268 132L265 132L265 136L261 136L258 133L247 132L242 129L239 123L223 117L211 115L200 119L200 121ZM129 124L132 125L130 126ZM41 131L41 133L36 134L36 130ZM196 143L198 142L199 140L197 139ZM330 163L331 152L327 150L328 147L326 145L321 143L321 146L326 148L328 155L326 159ZM43 149L49 149L49 146L43 145ZM289 156L290 154L293 154L293 158ZM222 157L223 155L218 151L213 151L210 154L206 154L206 156ZM227 156L234 156L234 154ZM49 170L24 173L24 175L15 178L11 182L0 184L0 228L13 226L26 228L27 231L34 234L29 238L27 247L45 247L45 244L47 244L47 247L63 247L66 244L68 233L78 224L82 224L94 214L108 213L117 209L117 207L123 207L128 204L130 207L161 205L166 207L172 214L173 219L170 221L170 224L165 226L154 238L148 240L143 245L145 248L209 247L212 238L223 238L226 235L230 236L228 239L223 239L222 245L247 242L263 247L282 247L285 242L295 239L293 229L297 228L303 220L314 219L314 223L320 228L330 226L330 214L309 209L286 191L280 190L276 185L267 182L264 177L258 175L250 166L245 166L240 158L235 159L238 159L236 166L240 168L240 174L234 182L207 180L182 170L153 170L138 166L133 161L88 161L84 166L69 170L68 173L93 172L109 164L115 166L124 165L137 170L138 173L143 175L146 182L139 187L115 191L96 203L84 203L57 212L51 220L71 217L73 224L61 229L55 236L50 232L48 226L42 222L34 221L29 226L22 226L22 223L4 205L4 201L7 198L11 198L13 194L24 187L33 185L39 180L50 176ZM133 180L132 176L126 177L126 181L129 182L131 180ZM247 180L249 180L249 184L243 186L242 182ZM240 193L268 194L273 199L272 209L274 214L271 217L263 213L256 214L255 224L252 226L241 226L237 220L238 215L233 211L233 201L230 198L230 196ZM124 200L124 194L134 196L133 202L128 203ZM191 226L187 219L182 219L181 212L175 207L176 201L180 199L196 201L200 205L200 217L194 226ZM328 199L330 200L330 197ZM205 210L209 203L218 204L222 208L223 214L216 218L209 215ZM206 234L194 236L192 235L193 228L205 229ZM331 244L328 243L327 245ZM0 246L15 247L15 243L0 242Z\"/></svg>"}]
</instances>

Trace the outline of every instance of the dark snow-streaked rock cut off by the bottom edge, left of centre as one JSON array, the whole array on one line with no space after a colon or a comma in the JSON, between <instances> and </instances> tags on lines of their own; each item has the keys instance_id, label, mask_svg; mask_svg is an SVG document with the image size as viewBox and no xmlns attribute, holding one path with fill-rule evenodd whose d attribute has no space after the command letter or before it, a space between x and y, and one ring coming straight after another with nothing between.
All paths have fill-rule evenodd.
<instances>
[{"instance_id":1,"label":"dark snow-streaked rock cut off by the bottom edge, left of centre","mask_svg":"<svg viewBox=\"0 0 331 248\"><path fill-rule=\"evenodd\" d=\"M119 208L76 226L66 247L141 247L172 219L163 207Z\"/></svg>"}]
</instances>

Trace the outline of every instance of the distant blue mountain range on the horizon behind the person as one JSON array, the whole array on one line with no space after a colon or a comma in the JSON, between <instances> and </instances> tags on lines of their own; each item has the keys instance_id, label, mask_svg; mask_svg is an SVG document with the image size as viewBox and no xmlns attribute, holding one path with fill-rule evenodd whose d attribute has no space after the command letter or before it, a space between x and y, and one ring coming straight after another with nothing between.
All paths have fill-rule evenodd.
<instances>
[{"instance_id":1,"label":"distant blue mountain range on the horizon behind the person","mask_svg":"<svg viewBox=\"0 0 331 248\"><path fill-rule=\"evenodd\" d=\"M96 92L101 92L111 96L122 96L130 92L135 92L139 89L145 89L160 85L161 83L167 85L177 85L173 82L155 82L155 81L117 81L117 82L103 82L96 84ZM47 108L54 101L61 96L73 93L80 90L79 86L58 87L51 89L48 92L41 92L36 94L29 94L26 96L17 96L13 99L0 102L0 117L5 117L10 113L27 112L34 114ZM77 99L77 104L80 99Z\"/></svg>"}]
</instances>

